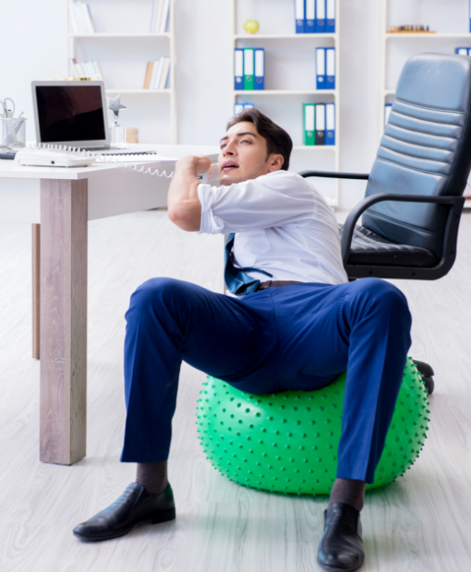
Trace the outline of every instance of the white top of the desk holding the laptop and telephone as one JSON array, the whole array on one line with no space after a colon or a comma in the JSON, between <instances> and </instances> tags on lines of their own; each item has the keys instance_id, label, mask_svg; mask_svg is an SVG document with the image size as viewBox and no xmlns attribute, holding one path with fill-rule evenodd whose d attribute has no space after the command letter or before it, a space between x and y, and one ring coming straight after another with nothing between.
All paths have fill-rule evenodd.
<instances>
[{"instance_id":1,"label":"white top of the desk holding the laptop and telephone","mask_svg":"<svg viewBox=\"0 0 471 572\"><path fill-rule=\"evenodd\" d=\"M132 144L126 151L156 151L158 158L155 160L137 159L136 165L142 165L151 169L165 169L167 173L175 166L175 161L187 155L205 155L211 160L219 153L218 146L204 145L150 145ZM116 157L119 161L119 157ZM127 163L127 161L126 161ZM108 163L95 163L91 166L82 167L54 167L54 166L18 166L15 161L0 160L0 178L28 178L28 179L90 179L95 176L104 176L105 172L129 172L124 166L116 166Z\"/></svg>"}]
</instances>

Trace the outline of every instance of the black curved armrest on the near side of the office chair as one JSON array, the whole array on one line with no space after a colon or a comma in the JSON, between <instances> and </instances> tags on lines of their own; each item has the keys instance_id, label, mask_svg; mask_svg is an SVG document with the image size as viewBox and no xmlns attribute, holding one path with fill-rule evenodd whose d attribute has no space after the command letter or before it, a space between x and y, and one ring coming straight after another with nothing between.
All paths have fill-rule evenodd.
<instances>
[{"instance_id":1,"label":"black curved armrest on the near side of the office chair","mask_svg":"<svg viewBox=\"0 0 471 572\"><path fill-rule=\"evenodd\" d=\"M377 195L366 196L350 211L346 217L344 231L342 233L342 260L344 266L350 255L352 236L355 230L356 221L370 206L383 201L399 201L401 203L436 203L440 205L451 205L451 213L446 221L445 244L448 244L452 237L452 231L457 233L458 220L465 205L464 196L423 196L423 195L394 195L392 193L378 193ZM453 224L456 221L455 225ZM446 249L445 249L446 250Z\"/></svg>"}]
</instances>

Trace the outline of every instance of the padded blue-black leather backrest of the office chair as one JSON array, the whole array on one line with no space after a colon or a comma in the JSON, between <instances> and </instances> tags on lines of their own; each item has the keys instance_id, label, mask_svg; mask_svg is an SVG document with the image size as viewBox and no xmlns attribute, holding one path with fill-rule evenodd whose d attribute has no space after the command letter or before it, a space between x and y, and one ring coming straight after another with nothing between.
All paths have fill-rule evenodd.
<instances>
[{"instance_id":1,"label":"padded blue-black leather backrest of the office chair","mask_svg":"<svg viewBox=\"0 0 471 572\"><path fill-rule=\"evenodd\" d=\"M404 66L366 196L461 196L471 168L471 58L420 54ZM442 255L448 206L383 202L362 225Z\"/></svg>"}]
</instances>

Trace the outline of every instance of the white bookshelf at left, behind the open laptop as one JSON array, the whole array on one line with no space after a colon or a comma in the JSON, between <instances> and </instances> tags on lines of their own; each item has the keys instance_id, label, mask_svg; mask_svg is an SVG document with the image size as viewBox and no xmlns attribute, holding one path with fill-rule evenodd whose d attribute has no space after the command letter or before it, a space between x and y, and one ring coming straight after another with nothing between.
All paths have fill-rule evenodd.
<instances>
[{"instance_id":1,"label":"white bookshelf at left, behind the open laptop","mask_svg":"<svg viewBox=\"0 0 471 572\"><path fill-rule=\"evenodd\" d=\"M79 62L98 61L106 95L122 95L128 107L120 114L122 125L138 128L140 143L176 144L175 0L170 0L169 31L162 34L147 31L153 0L87 1L95 34L74 33L70 2L65 0L67 69L74 57ZM169 87L143 89L147 62L161 55L170 56Z\"/></svg>"}]
</instances>

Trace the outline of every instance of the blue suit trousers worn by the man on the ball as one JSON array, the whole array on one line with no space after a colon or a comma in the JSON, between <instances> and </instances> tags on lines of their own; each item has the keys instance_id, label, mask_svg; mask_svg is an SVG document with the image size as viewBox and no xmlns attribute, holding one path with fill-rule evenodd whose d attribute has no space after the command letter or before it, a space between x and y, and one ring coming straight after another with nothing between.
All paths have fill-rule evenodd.
<instances>
[{"instance_id":1,"label":"blue suit trousers worn by the man on the ball","mask_svg":"<svg viewBox=\"0 0 471 572\"><path fill-rule=\"evenodd\" d=\"M125 317L122 461L167 459L182 360L256 395L312 391L347 371L337 477L373 482L411 343L396 286L365 278L234 298L154 278Z\"/></svg>"}]
</instances>

